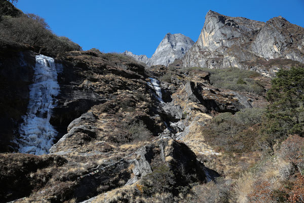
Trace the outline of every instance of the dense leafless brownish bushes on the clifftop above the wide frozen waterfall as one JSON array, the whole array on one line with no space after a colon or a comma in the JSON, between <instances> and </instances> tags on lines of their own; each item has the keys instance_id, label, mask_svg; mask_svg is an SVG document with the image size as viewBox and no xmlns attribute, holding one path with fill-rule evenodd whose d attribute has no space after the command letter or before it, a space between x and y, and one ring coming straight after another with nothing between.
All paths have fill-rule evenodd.
<instances>
[{"instance_id":1,"label":"dense leafless brownish bushes on the clifftop above the wide frozen waterfall","mask_svg":"<svg viewBox=\"0 0 304 203\"><path fill-rule=\"evenodd\" d=\"M0 22L0 39L33 47L36 52L55 56L81 47L66 37L58 37L45 20L34 14L19 17L4 16Z\"/></svg>"}]
</instances>

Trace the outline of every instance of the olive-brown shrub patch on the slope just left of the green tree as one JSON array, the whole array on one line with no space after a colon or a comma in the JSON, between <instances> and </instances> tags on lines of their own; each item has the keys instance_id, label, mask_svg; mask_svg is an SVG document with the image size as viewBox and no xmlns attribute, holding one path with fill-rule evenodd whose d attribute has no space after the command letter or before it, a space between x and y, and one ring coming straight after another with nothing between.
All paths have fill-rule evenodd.
<instances>
[{"instance_id":1,"label":"olive-brown shrub patch on the slope just left of the green tree","mask_svg":"<svg viewBox=\"0 0 304 203\"><path fill-rule=\"evenodd\" d=\"M207 125L203 134L206 141L218 150L242 153L254 151L263 109L244 109L232 113L221 113Z\"/></svg>"}]
</instances>

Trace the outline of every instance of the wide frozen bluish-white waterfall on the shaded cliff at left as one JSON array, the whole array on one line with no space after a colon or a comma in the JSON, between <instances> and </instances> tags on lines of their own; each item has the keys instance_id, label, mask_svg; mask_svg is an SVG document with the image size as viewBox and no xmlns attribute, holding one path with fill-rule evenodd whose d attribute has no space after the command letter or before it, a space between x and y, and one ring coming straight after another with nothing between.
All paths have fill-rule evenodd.
<instances>
[{"instance_id":1,"label":"wide frozen bluish-white waterfall on the shaded cliff at left","mask_svg":"<svg viewBox=\"0 0 304 203\"><path fill-rule=\"evenodd\" d=\"M49 121L55 107L54 96L58 93L59 84L54 59L37 55L27 114L19 128L20 139L15 140L19 152L36 155L49 153L57 134Z\"/></svg>"}]
</instances>

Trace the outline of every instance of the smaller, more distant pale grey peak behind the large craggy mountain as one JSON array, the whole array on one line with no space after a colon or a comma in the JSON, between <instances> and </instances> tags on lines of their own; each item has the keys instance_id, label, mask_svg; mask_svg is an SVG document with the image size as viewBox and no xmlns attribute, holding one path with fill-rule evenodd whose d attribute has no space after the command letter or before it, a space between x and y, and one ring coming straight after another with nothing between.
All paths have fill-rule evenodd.
<instances>
[{"instance_id":1,"label":"smaller, more distant pale grey peak behind the large craggy mountain","mask_svg":"<svg viewBox=\"0 0 304 203\"><path fill-rule=\"evenodd\" d=\"M144 62L148 66L167 66L168 64L174 62L175 59L182 58L193 45L193 40L180 33L173 35L171 33L167 33L151 58L147 58L146 55L135 55L129 51L125 51L124 54L127 56L132 56L137 61Z\"/></svg>"}]
</instances>

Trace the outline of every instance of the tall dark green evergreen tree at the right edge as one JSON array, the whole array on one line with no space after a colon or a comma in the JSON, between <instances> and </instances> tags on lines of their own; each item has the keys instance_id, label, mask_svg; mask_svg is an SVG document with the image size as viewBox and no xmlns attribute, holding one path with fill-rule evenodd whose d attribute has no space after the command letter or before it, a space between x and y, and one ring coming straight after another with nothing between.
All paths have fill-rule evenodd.
<instances>
[{"instance_id":1,"label":"tall dark green evergreen tree at the right edge","mask_svg":"<svg viewBox=\"0 0 304 203\"><path fill-rule=\"evenodd\" d=\"M280 70L267 93L270 105L264 114L263 139L271 145L288 134L304 135L304 69Z\"/></svg>"}]
</instances>

